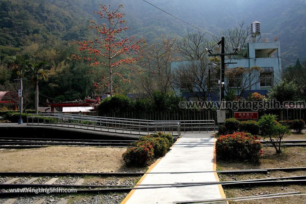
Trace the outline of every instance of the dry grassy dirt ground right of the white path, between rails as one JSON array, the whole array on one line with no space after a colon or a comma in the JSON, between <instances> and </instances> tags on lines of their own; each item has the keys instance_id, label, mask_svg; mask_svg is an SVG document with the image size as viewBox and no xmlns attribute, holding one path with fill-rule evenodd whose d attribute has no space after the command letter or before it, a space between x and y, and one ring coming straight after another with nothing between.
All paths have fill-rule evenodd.
<instances>
[{"instance_id":1,"label":"dry grassy dirt ground right of the white path, between rails","mask_svg":"<svg viewBox=\"0 0 306 204\"><path fill-rule=\"evenodd\" d=\"M290 136L289 136L290 137ZM289 138L288 138L289 139ZM290 138L291 139L291 138ZM306 167L306 147L287 147L282 150L281 154L276 154L273 147L264 147L263 156L260 158L259 164L248 164L241 162L224 162L217 160L217 170L233 170L233 169L267 169L267 168L286 168L286 167ZM268 174L240 174L240 175L223 175L219 174L220 181L233 180L253 180L264 178L278 178L286 176L304 176L306 171L282 172L271 171ZM283 187L283 188L282 188ZM284 186L258 186L258 187L242 187L242 188L223 188L227 198L252 196L271 193L284 193L292 191L300 191L306 193L305 185L284 185ZM306 203L306 196L289 196L284 198L270 198L240 201L232 203L261 203L261 204L277 204L277 203L291 203L300 204Z\"/></svg>"}]
</instances>

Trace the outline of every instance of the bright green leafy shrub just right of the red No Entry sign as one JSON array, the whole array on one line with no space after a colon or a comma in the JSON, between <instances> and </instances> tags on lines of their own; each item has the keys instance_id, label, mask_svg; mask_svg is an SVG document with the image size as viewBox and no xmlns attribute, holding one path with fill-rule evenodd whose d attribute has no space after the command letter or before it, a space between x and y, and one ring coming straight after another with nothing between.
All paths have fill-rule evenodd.
<instances>
[{"instance_id":1,"label":"bright green leafy shrub just right of the red No Entry sign","mask_svg":"<svg viewBox=\"0 0 306 204\"><path fill-rule=\"evenodd\" d=\"M277 124L276 115L263 115L258 121L259 130L262 135L274 135L273 128Z\"/></svg>"}]
</instances>

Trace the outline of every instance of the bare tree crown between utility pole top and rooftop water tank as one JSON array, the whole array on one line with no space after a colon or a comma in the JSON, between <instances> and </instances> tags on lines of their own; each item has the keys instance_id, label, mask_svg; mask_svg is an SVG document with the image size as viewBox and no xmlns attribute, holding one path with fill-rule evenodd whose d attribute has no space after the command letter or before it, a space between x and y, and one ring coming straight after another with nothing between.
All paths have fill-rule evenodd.
<instances>
[{"instance_id":1,"label":"bare tree crown between utility pole top and rooftop water tank","mask_svg":"<svg viewBox=\"0 0 306 204\"><path fill-rule=\"evenodd\" d=\"M224 36L226 53L233 52L234 47L244 46L251 40L251 26L246 25L244 21L238 22L238 25L233 29L222 31L218 37L213 36L216 43Z\"/></svg>"}]
</instances>

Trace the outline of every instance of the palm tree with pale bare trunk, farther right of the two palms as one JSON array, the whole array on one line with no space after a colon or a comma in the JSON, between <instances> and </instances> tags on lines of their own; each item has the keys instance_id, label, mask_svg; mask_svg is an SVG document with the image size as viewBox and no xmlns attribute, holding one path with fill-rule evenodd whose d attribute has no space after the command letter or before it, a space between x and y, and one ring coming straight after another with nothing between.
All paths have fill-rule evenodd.
<instances>
[{"instance_id":1,"label":"palm tree with pale bare trunk, farther right of the two palms","mask_svg":"<svg viewBox=\"0 0 306 204\"><path fill-rule=\"evenodd\" d=\"M48 80L48 74L44 70L44 66L47 65L46 62L39 62L38 64L30 63L27 70L27 75L30 77L31 85L35 86L35 113L38 113L38 81Z\"/></svg>"}]
</instances>

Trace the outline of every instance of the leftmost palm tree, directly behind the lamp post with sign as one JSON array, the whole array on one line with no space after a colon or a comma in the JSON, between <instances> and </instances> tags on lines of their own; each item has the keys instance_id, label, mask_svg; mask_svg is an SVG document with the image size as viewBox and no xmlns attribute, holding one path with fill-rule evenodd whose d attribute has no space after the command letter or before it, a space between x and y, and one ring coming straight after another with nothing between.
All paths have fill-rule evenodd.
<instances>
[{"instance_id":1,"label":"leftmost palm tree, directly behind the lamp post with sign","mask_svg":"<svg viewBox=\"0 0 306 204\"><path fill-rule=\"evenodd\" d=\"M16 72L19 78L20 89L22 89L22 76L24 76L25 71L28 69L28 65L29 62L20 55L14 56L13 59L10 60L8 63L8 66ZM19 104L20 113L22 113L22 107L23 107L22 97L19 103L20 103Z\"/></svg>"}]
</instances>

